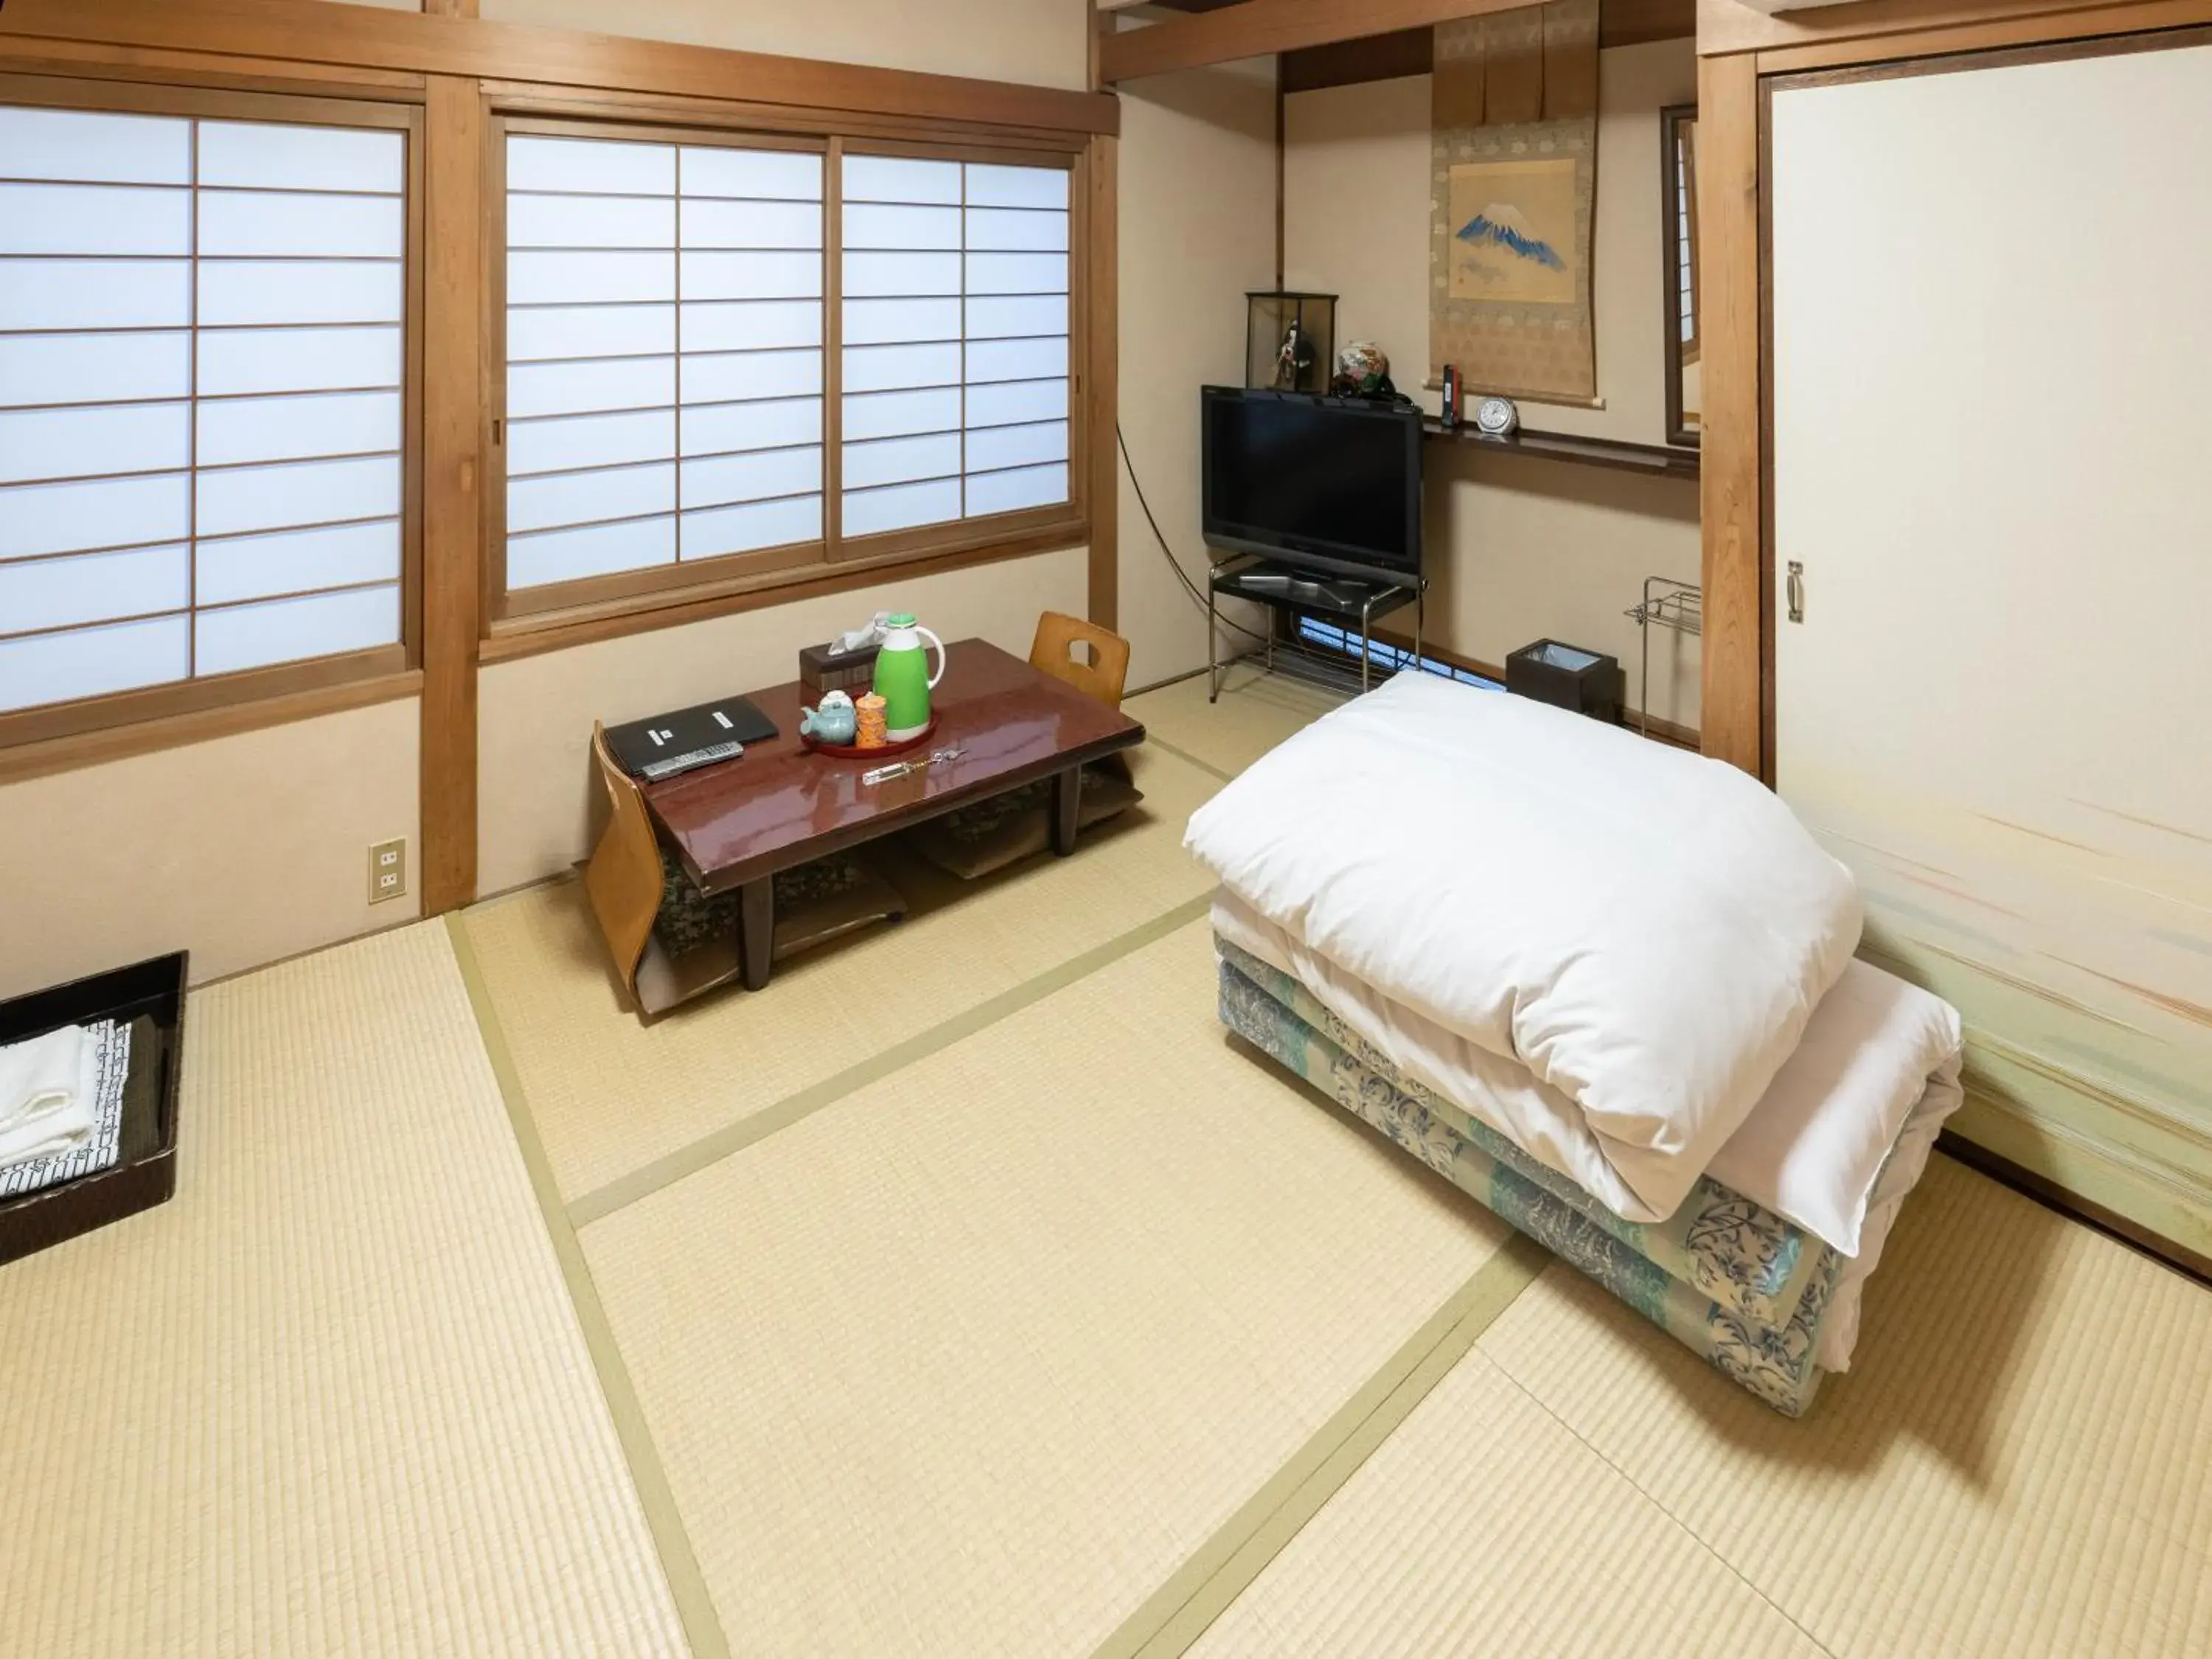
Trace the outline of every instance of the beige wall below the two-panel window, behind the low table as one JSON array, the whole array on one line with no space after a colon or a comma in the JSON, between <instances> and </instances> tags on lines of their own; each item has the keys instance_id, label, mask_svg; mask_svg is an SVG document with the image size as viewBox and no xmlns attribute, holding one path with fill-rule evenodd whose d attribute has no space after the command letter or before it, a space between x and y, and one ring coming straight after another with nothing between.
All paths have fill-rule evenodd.
<instances>
[{"instance_id":1,"label":"beige wall below the two-panel window, behind the low table","mask_svg":"<svg viewBox=\"0 0 2212 1659\"><path fill-rule=\"evenodd\" d=\"M980 635L1026 657L1037 615L1082 615L1086 582L1088 553L1068 549L487 668L478 688L478 891L560 874L591 852L602 812L588 754L595 719L641 719L796 679L801 646L876 611L914 611L947 639Z\"/></svg>"}]
</instances>

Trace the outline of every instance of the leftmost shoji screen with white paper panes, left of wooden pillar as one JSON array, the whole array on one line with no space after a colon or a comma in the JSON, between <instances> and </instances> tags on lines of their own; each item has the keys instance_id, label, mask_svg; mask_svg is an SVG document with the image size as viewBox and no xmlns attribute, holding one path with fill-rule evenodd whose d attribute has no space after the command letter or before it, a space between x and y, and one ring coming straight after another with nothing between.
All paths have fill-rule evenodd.
<instances>
[{"instance_id":1,"label":"leftmost shoji screen with white paper panes, left of wooden pillar","mask_svg":"<svg viewBox=\"0 0 2212 1659\"><path fill-rule=\"evenodd\" d=\"M403 639L407 137L0 108L0 712Z\"/></svg>"}]
</instances>

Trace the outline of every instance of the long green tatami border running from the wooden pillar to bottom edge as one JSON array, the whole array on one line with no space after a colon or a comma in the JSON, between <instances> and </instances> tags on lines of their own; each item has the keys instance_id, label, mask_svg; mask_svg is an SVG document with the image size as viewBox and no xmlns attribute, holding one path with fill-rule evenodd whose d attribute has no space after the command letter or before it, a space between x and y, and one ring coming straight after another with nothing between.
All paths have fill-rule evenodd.
<instances>
[{"instance_id":1,"label":"long green tatami border running from the wooden pillar to bottom edge","mask_svg":"<svg viewBox=\"0 0 2212 1659\"><path fill-rule=\"evenodd\" d=\"M522 1079L515 1073L513 1055L507 1051L500 1013L491 1002L491 989L484 984L484 973L478 967L476 947L469 942L469 929L462 925L460 911L445 918L445 929L453 942L453 960L460 964L462 984L469 989L469 1009L476 1013L484 1053L491 1057L491 1073L500 1082L500 1099L507 1104L515 1146L522 1152L522 1166L529 1170L531 1192L544 1217L546 1237L553 1241L553 1254L560 1261L568 1301L575 1305L577 1323L584 1327L584 1347L591 1352L591 1367L599 1376L606 1409L615 1420L615 1436L622 1440L622 1455L630 1464L630 1478L637 1482L637 1500L646 1511L646 1524L653 1528L653 1544L661 1557L661 1571L668 1575L668 1590L675 1597L677 1617L684 1621L684 1635L690 1641L695 1659L730 1659L730 1639L721 1628L721 1615L714 1610L714 1597L708 1593L706 1573L699 1571L699 1555L692 1548L690 1533L684 1531L675 1491L668 1486L668 1471L661 1467L661 1453L653 1444L653 1431L646 1427L637 1387L630 1383L622 1349L615 1345L615 1329L606 1321L606 1307L599 1303L597 1285L593 1285L584 1248L577 1243L575 1225L560 1201L553 1166L546 1161L544 1144L538 1139L538 1124L531 1119L529 1104L522 1097Z\"/></svg>"}]
</instances>

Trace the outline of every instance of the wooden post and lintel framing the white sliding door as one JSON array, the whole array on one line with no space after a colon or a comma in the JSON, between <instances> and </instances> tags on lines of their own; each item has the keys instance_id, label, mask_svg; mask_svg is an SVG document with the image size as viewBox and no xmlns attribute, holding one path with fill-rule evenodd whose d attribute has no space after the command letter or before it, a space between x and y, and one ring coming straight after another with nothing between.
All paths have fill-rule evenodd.
<instances>
[{"instance_id":1,"label":"wooden post and lintel framing the white sliding door","mask_svg":"<svg viewBox=\"0 0 2212 1659\"><path fill-rule=\"evenodd\" d=\"M2048 9L2044 0L1863 4L1767 18L1699 7L1699 294L1703 316L1705 754L1774 783L1774 407L1767 102L1783 75L1936 73L2026 49L2128 51L2212 24L2212 0ZM2126 42L2121 38L2128 38ZM1984 58L1991 66L2008 62Z\"/></svg>"}]
</instances>

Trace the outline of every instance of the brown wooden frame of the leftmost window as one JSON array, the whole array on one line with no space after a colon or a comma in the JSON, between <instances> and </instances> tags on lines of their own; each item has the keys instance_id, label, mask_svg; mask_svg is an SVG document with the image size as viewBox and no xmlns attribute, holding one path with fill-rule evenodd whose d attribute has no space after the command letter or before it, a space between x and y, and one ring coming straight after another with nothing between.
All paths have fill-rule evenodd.
<instances>
[{"instance_id":1,"label":"brown wooden frame of the leftmost window","mask_svg":"<svg viewBox=\"0 0 2212 1659\"><path fill-rule=\"evenodd\" d=\"M358 126L396 131L407 137L407 250L400 323L400 644L0 712L0 779L53 770L53 763L66 763L66 757L80 748L100 754L164 748L168 741L197 741L226 730L279 723L334 706L385 701L416 690L422 661L425 119L420 104L392 100L389 93L349 97L343 84L334 84L330 93L263 93L20 73L0 73L0 104L292 126ZM197 323L186 332L195 334L197 352ZM188 403L197 420L197 398ZM199 526L190 529L197 542ZM197 608L192 615L197 617ZM117 728L135 728L144 741L102 737Z\"/></svg>"}]
</instances>

